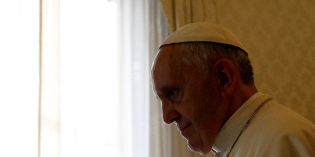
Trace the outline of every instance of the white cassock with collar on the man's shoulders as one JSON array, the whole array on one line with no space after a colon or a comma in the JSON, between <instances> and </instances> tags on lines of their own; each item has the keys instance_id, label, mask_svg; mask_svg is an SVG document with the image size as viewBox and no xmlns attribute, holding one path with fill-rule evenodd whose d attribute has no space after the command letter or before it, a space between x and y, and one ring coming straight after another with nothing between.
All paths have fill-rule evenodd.
<instances>
[{"instance_id":1,"label":"white cassock with collar on the man's shoulders","mask_svg":"<svg viewBox=\"0 0 315 157\"><path fill-rule=\"evenodd\" d=\"M215 156L226 156L253 111L268 94L251 96L215 138ZM265 103L240 135L229 156L315 156L315 125L275 100Z\"/></svg>"}]
</instances>

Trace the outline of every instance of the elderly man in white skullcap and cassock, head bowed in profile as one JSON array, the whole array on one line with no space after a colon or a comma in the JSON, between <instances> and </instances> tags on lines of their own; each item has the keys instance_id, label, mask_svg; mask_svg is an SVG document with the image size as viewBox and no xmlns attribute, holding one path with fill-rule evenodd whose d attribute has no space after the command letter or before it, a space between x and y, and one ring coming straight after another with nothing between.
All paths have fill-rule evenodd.
<instances>
[{"instance_id":1,"label":"elderly man in white skullcap and cassock, head bowed in profile","mask_svg":"<svg viewBox=\"0 0 315 157\"><path fill-rule=\"evenodd\" d=\"M257 91L240 40L213 23L173 32L152 64L165 123L193 151L215 156L315 156L315 126Z\"/></svg>"}]
</instances>

